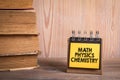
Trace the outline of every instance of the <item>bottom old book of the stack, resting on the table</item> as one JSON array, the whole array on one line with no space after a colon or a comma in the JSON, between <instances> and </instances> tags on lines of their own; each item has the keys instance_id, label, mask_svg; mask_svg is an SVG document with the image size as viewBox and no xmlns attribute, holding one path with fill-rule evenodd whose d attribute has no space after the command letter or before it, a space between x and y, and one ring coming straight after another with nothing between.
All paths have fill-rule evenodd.
<instances>
[{"instance_id":1,"label":"bottom old book of the stack, resting on the table","mask_svg":"<svg viewBox=\"0 0 120 80\"><path fill-rule=\"evenodd\" d=\"M0 71L35 68L38 66L37 56L36 52L0 55Z\"/></svg>"}]
</instances>

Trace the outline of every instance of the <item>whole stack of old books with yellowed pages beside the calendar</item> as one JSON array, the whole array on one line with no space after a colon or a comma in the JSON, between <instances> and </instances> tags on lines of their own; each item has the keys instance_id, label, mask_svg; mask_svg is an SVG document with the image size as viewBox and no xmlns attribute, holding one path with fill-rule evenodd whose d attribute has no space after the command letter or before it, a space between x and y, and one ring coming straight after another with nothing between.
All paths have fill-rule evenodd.
<instances>
[{"instance_id":1,"label":"whole stack of old books with yellowed pages beside the calendar","mask_svg":"<svg viewBox=\"0 0 120 80\"><path fill-rule=\"evenodd\" d=\"M0 0L0 71L38 66L40 52L33 0Z\"/></svg>"}]
</instances>

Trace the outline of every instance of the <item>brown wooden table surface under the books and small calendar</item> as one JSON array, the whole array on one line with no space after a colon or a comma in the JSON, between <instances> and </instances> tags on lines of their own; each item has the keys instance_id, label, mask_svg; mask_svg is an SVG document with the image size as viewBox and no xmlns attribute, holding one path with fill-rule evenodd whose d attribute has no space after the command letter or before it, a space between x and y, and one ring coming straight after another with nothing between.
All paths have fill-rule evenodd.
<instances>
[{"instance_id":1,"label":"brown wooden table surface under the books and small calendar","mask_svg":"<svg viewBox=\"0 0 120 80\"><path fill-rule=\"evenodd\" d=\"M120 59L103 61L102 75L66 73L66 58L39 59L39 64L33 70L0 72L0 80L120 80Z\"/></svg>"}]
</instances>

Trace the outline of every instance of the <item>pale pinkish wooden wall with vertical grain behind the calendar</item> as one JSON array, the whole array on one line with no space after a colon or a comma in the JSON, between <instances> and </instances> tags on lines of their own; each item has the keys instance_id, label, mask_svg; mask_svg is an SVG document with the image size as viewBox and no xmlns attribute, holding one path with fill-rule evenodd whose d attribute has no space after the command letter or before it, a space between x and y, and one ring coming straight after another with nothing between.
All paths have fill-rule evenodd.
<instances>
[{"instance_id":1,"label":"pale pinkish wooden wall with vertical grain behind the calendar","mask_svg":"<svg viewBox=\"0 0 120 80\"><path fill-rule=\"evenodd\" d=\"M41 57L66 57L72 30L99 30L103 58L120 57L119 3L120 0L34 0Z\"/></svg>"}]
</instances>

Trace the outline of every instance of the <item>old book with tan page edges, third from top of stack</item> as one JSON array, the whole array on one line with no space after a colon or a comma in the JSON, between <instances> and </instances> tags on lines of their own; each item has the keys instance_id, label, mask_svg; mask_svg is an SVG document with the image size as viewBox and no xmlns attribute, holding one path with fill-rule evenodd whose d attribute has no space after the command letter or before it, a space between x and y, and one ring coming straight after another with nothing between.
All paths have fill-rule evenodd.
<instances>
[{"instance_id":1,"label":"old book with tan page edges, third from top of stack","mask_svg":"<svg viewBox=\"0 0 120 80\"><path fill-rule=\"evenodd\" d=\"M0 36L0 55L38 51L39 40L33 36Z\"/></svg>"}]
</instances>

